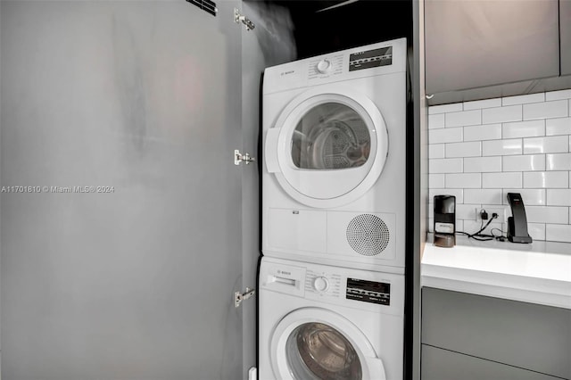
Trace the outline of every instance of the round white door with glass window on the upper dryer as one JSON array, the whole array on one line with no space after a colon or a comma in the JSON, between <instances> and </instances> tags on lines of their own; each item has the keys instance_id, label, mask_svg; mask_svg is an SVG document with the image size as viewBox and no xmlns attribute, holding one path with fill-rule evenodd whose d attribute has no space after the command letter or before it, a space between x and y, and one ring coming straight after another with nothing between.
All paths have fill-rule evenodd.
<instances>
[{"instance_id":1,"label":"round white door with glass window on the upper dryer","mask_svg":"<svg viewBox=\"0 0 571 380\"><path fill-rule=\"evenodd\" d=\"M341 206L365 194L387 153L381 112L367 96L345 87L298 95L266 135L269 172L287 194L317 208Z\"/></svg>"}]
</instances>

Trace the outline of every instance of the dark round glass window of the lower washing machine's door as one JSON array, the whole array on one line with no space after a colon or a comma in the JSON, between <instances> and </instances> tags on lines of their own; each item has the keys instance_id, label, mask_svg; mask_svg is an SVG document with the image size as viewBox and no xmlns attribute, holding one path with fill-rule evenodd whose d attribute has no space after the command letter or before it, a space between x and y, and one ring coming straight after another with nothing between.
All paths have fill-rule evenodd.
<instances>
[{"instance_id":1,"label":"dark round glass window of the lower washing machine's door","mask_svg":"<svg viewBox=\"0 0 571 380\"><path fill-rule=\"evenodd\" d=\"M297 326L285 343L288 366L295 379L361 380L359 355L347 338L323 323Z\"/></svg>"}]
</instances>

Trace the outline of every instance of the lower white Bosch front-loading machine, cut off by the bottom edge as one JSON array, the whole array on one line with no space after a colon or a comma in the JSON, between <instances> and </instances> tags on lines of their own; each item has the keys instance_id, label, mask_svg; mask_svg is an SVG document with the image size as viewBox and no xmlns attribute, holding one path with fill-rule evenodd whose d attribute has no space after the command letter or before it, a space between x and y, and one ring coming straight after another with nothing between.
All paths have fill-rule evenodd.
<instances>
[{"instance_id":1,"label":"lower white Bosch front-loading machine, cut off by the bottom edge","mask_svg":"<svg viewBox=\"0 0 571 380\"><path fill-rule=\"evenodd\" d=\"M401 380L404 276L264 257L260 380Z\"/></svg>"}]
</instances>

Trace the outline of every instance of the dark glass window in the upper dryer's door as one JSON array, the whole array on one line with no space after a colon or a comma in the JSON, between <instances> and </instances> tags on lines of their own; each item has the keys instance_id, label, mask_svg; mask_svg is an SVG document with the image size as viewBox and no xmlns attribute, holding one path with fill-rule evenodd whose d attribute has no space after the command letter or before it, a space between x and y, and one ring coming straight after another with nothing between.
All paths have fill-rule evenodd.
<instances>
[{"instance_id":1,"label":"dark glass window in the upper dryer's door","mask_svg":"<svg viewBox=\"0 0 571 380\"><path fill-rule=\"evenodd\" d=\"M350 169L368 160L371 136L367 123L343 103L321 103L305 113L292 136L296 168Z\"/></svg>"}]
</instances>

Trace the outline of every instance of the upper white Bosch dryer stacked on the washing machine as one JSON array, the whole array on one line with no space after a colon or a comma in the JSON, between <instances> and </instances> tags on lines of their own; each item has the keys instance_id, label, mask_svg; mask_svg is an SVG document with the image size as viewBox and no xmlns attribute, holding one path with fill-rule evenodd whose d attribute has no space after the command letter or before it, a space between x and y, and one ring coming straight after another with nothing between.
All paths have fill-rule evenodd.
<instances>
[{"instance_id":1,"label":"upper white Bosch dryer stacked on the washing machine","mask_svg":"<svg viewBox=\"0 0 571 380\"><path fill-rule=\"evenodd\" d=\"M406 39L265 70L262 252L404 273Z\"/></svg>"}]
</instances>

